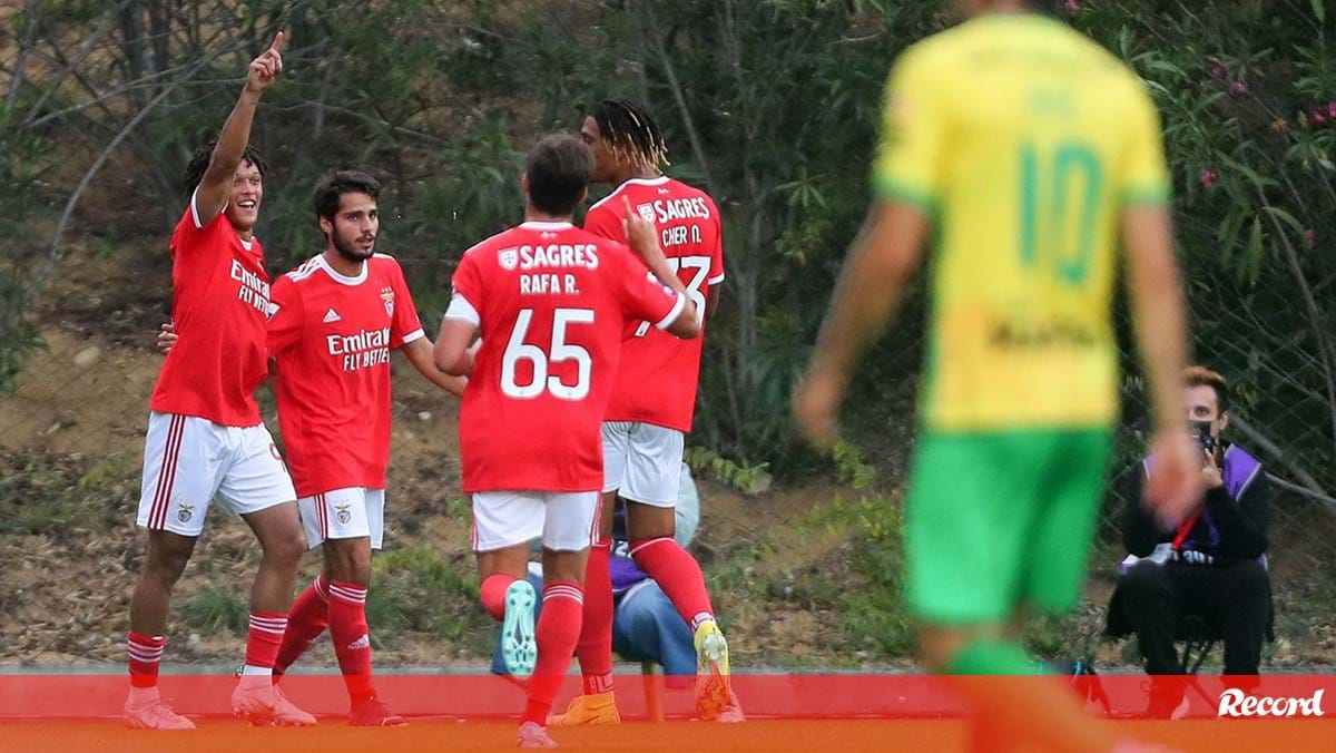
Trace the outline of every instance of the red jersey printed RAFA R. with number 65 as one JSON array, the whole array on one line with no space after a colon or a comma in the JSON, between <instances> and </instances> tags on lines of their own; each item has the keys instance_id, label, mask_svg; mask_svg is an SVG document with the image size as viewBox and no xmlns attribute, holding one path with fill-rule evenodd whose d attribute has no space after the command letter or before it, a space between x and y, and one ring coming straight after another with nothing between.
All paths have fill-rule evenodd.
<instances>
[{"instance_id":1,"label":"red jersey printed RAFA R. with number 65","mask_svg":"<svg viewBox=\"0 0 1336 753\"><path fill-rule=\"evenodd\" d=\"M446 317L482 334L460 407L464 491L601 491L599 428L623 332L669 326L685 298L631 249L565 222L488 238L453 284Z\"/></svg>"}]
</instances>

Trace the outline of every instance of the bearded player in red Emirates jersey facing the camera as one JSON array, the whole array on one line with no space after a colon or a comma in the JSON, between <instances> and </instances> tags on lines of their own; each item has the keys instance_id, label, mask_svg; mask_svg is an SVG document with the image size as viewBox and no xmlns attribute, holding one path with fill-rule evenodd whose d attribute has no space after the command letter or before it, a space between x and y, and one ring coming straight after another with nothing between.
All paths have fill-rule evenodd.
<instances>
[{"instance_id":1,"label":"bearded player in red Emirates jersey facing the camera","mask_svg":"<svg viewBox=\"0 0 1336 753\"><path fill-rule=\"evenodd\" d=\"M322 546L321 575L297 598L275 678L330 630L354 726L405 721L371 685L366 591L371 550L385 531L390 460L390 350L458 396L465 380L436 368L397 261L375 253L379 183L334 171L315 187L325 250L274 282L269 346L278 419L307 543Z\"/></svg>"}]
</instances>

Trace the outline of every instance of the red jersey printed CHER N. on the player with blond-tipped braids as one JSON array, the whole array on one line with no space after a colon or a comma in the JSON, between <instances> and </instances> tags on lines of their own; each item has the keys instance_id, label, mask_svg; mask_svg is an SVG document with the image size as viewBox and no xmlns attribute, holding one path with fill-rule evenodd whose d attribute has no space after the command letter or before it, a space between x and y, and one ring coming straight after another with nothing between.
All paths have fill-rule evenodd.
<instances>
[{"instance_id":1,"label":"red jersey printed CHER N. on the player with blond-tipped braids","mask_svg":"<svg viewBox=\"0 0 1336 753\"><path fill-rule=\"evenodd\" d=\"M713 199L668 177L636 178L589 207L585 230L625 242L621 197L631 201L632 211L659 229L659 246L704 320L709 286L724 281L723 229ZM679 340L648 322L632 324L625 336L607 420L689 432L704 336Z\"/></svg>"}]
</instances>

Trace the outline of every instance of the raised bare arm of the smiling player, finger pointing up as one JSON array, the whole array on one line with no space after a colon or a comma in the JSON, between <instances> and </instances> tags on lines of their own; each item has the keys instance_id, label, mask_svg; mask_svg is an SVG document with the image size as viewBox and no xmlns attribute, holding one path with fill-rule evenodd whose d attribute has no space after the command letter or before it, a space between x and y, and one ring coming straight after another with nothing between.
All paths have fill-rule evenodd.
<instances>
[{"instance_id":1,"label":"raised bare arm of the smiling player, finger pointing up","mask_svg":"<svg viewBox=\"0 0 1336 753\"><path fill-rule=\"evenodd\" d=\"M223 123L222 132L218 134L218 143L214 144L208 167L195 190L195 211L199 214L200 225L207 225L227 206L227 197L232 190L232 175L246 154L246 144L250 143L251 122L255 119L259 98L265 90L274 86L278 75L283 71L283 58L279 55L282 45L283 32L278 32L269 49L251 60L242 95L236 99L236 106L232 107L227 122Z\"/></svg>"}]
</instances>

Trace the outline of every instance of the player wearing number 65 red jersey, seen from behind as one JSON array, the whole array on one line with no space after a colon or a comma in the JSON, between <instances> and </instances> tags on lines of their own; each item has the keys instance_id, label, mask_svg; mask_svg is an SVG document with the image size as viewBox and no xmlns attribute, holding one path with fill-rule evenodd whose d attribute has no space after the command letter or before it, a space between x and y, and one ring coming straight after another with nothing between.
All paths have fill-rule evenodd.
<instances>
[{"instance_id":1,"label":"player wearing number 65 red jersey, seen from behind","mask_svg":"<svg viewBox=\"0 0 1336 753\"><path fill-rule=\"evenodd\" d=\"M676 337L700 333L652 225L624 203L635 254L570 225L592 171L589 148L573 136L548 136L529 152L525 222L464 254L436 346L442 370L469 374L460 455L482 603L504 619L510 673L533 673L521 748L556 745L545 725L580 635L603 488L599 431L623 332L648 321ZM468 348L478 334L474 356ZM525 575L537 538L545 584L534 630Z\"/></svg>"}]
</instances>

